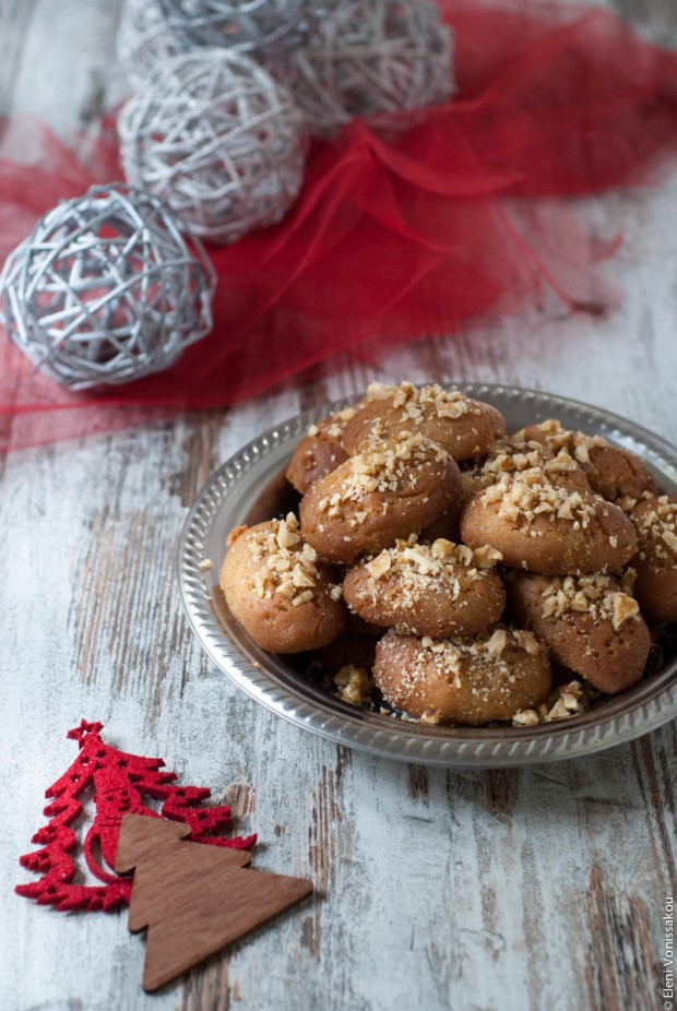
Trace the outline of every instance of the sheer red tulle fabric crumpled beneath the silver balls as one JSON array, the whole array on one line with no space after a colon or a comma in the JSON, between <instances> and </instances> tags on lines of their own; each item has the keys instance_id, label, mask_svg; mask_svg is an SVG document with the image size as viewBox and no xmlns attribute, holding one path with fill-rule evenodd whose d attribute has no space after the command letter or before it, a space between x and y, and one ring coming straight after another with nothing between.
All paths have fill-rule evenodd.
<instances>
[{"instance_id":1,"label":"sheer red tulle fabric crumpled beneath the silver balls","mask_svg":"<svg viewBox=\"0 0 677 1011\"><path fill-rule=\"evenodd\" d=\"M453 334L545 289L604 312L614 293L593 265L615 239L591 241L556 198L656 180L677 150L677 52L596 8L440 5L454 29L454 99L396 133L356 120L316 142L287 217L210 250L214 331L170 370L75 395L2 342L0 445L229 404L337 352ZM2 151L2 255L58 200L121 178L112 121L80 139L78 156L11 121Z\"/></svg>"}]
</instances>

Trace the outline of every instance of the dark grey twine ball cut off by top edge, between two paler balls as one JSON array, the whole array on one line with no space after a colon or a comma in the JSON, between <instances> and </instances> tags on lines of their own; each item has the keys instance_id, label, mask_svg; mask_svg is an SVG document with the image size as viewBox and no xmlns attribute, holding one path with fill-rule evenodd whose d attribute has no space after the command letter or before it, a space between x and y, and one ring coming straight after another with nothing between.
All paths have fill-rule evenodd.
<instances>
[{"instance_id":1,"label":"dark grey twine ball cut off by top edge, between two paler balls","mask_svg":"<svg viewBox=\"0 0 677 1011\"><path fill-rule=\"evenodd\" d=\"M298 44L312 0L158 0L175 35L195 46L253 52Z\"/></svg>"}]
</instances>

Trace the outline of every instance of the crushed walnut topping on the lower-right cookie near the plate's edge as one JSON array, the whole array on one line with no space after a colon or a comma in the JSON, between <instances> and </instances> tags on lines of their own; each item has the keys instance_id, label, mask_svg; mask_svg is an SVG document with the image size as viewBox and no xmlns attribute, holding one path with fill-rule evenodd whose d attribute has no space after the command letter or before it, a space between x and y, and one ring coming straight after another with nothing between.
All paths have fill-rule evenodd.
<instances>
[{"instance_id":1,"label":"crushed walnut topping on the lower-right cookie near the plate's edge","mask_svg":"<svg viewBox=\"0 0 677 1011\"><path fill-rule=\"evenodd\" d=\"M640 616L637 600L604 573L553 579L541 596L544 618L561 618L571 611L586 614L593 621L610 621L615 632Z\"/></svg>"}]
</instances>

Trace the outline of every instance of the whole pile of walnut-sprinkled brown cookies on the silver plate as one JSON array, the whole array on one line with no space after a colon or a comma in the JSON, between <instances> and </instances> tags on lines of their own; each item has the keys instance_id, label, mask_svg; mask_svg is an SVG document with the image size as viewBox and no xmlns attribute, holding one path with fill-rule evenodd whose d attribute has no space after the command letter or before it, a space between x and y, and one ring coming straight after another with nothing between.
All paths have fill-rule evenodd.
<instances>
[{"instance_id":1,"label":"whole pile of walnut-sprinkled brown cookies on the silver plate","mask_svg":"<svg viewBox=\"0 0 677 1011\"><path fill-rule=\"evenodd\" d=\"M313 425L288 513L228 537L221 586L262 649L428 725L530 726L641 679L677 621L677 497L556 420L512 436L439 385L373 384Z\"/></svg>"}]
</instances>

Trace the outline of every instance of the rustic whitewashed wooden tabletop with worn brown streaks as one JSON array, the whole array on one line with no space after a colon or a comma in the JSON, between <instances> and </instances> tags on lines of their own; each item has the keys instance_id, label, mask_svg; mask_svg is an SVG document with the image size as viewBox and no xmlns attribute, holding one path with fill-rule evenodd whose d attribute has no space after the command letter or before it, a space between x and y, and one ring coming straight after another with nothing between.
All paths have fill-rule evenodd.
<instances>
[{"instance_id":1,"label":"rustic whitewashed wooden tabletop with worn brown streaks","mask_svg":"<svg viewBox=\"0 0 677 1011\"><path fill-rule=\"evenodd\" d=\"M616 0L677 43L673 0ZM118 0L0 0L0 110L82 124L124 93ZM544 307L426 342L378 369L234 411L0 461L2 895L8 1011L341 1009L654 1011L663 914L675 887L675 726L557 765L426 771L337 748L275 718L200 652L174 574L177 536L217 464L300 405L373 377L504 381L623 414L675 441L677 178L581 207L621 229L608 319ZM64 916L12 894L43 823L41 794L72 761L66 730L162 754L257 831L257 865L310 876L316 897L276 926L145 997L144 944L126 915ZM667 1008L667 1004L665 1004ZM669 1011L669 1009L668 1009Z\"/></svg>"}]
</instances>

